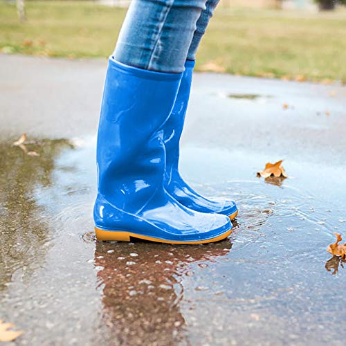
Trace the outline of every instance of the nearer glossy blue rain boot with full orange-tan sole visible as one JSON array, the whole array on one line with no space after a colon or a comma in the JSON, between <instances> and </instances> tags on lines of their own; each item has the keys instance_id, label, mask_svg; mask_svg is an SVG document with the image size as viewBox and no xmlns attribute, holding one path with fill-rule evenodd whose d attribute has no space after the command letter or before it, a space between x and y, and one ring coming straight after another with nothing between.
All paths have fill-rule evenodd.
<instances>
[{"instance_id":1,"label":"nearer glossy blue rain boot with full orange-tan sole visible","mask_svg":"<svg viewBox=\"0 0 346 346\"><path fill-rule=\"evenodd\" d=\"M182 206L165 191L163 123L181 73L137 69L109 59L98 129L98 240L169 244L216 242L230 235L225 215Z\"/></svg>"}]
</instances>

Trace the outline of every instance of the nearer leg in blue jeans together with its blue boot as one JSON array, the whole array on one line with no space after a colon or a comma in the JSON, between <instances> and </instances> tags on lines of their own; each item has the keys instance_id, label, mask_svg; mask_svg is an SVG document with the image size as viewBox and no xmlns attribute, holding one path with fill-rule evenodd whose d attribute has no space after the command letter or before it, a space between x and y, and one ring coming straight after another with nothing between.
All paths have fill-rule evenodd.
<instances>
[{"instance_id":1,"label":"nearer leg in blue jeans together with its blue boot","mask_svg":"<svg viewBox=\"0 0 346 346\"><path fill-rule=\"evenodd\" d=\"M164 188L163 125L206 0L134 0L109 59L98 129L98 240L201 244L228 237L225 215L190 210Z\"/></svg>"}]
</instances>

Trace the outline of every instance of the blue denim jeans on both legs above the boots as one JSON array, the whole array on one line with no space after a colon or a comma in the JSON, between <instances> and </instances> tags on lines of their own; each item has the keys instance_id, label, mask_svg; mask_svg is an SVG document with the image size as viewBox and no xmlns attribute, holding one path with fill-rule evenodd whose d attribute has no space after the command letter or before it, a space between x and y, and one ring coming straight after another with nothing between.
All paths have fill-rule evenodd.
<instances>
[{"instance_id":1,"label":"blue denim jeans on both legs above the boots","mask_svg":"<svg viewBox=\"0 0 346 346\"><path fill-rule=\"evenodd\" d=\"M132 0L113 53L122 64L180 73L219 0Z\"/></svg>"}]
</instances>

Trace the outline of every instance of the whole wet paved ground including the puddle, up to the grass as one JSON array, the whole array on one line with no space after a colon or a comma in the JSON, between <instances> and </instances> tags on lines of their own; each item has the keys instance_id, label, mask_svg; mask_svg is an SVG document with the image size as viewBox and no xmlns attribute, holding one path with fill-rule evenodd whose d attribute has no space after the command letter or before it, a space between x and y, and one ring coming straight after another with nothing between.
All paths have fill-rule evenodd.
<instances>
[{"instance_id":1,"label":"whole wet paved ground including the puddle, up to the grass","mask_svg":"<svg viewBox=\"0 0 346 346\"><path fill-rule=\"evenodd\" d=\"M345 345L346 88L196 75L181 170L233 197L203 246L95 242L104 61L0 55L0 319L17 345ZM11 143L28 134L28 156ZM33 140L33 143L30 143ZM256 177L284 158L289 179Z\"/></svg>"}]
</instances>

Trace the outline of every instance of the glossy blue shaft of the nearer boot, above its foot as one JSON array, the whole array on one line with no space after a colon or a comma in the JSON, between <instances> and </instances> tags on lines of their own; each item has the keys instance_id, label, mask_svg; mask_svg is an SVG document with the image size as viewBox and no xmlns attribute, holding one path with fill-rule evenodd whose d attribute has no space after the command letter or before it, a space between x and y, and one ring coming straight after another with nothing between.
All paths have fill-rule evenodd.
<instances>
[{"instance_id":1,"label":"glossy blue shaft of the nearer boot, above its foot","mask_svg":"<svg viewBox=\"0 0 346 346\"><path fill-rule=\"evenodd\" d=\"M156 73L109 59L98 129L98 192L136 212L163 185L159 131L172 110L181 73Z\"/></svg>"}]
</instances>

